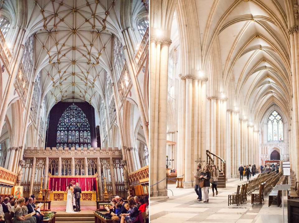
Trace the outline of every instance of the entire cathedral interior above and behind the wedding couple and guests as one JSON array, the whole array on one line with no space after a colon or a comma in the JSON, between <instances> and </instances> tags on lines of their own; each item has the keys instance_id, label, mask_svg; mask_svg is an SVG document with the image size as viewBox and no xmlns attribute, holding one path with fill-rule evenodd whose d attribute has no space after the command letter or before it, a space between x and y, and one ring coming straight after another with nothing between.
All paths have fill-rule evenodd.
<instances>
[{"instance_id":1,"label":"entire cathedral interior above and behind the wedding couple and guests","mask_svg":"<svg viewBox=\"0 0 299 223\"><path fill-rule=\"evenodd\" d=\"M149 193L148 25L148 1L1 1L1 195Z\"/></svg>"}]
</instances>

